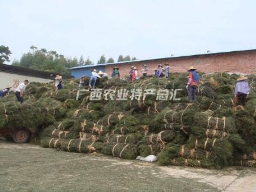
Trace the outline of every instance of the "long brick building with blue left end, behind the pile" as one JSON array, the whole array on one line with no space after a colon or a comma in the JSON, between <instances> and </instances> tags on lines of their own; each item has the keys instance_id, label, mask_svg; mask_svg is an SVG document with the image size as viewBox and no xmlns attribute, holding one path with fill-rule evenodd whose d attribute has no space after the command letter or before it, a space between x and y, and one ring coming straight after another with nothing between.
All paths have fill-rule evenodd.
<instances>
[{"instance_id":1,"label":"long brick building with blue left end, behind the pile","mask_svg":"<svg viewBox=\"0 0 256 192\"><path fill-rule=\"evenodd\" d=\"M148 74L154 74L158 64L169 63L171 72L185 72L190 66L200 72L241 72L244 74L256 74L256 49L231 52L217 52L207 54L196 54L191 56L179 56L171 58L159 58L154 60L125 61L119 63L106 63L100 65L85 65L70 68L72 76L79 78L83 75L90 76L95 68L102 70L111 76L113 67L117 66L120 76L125 77L129 74L131 66L141 69L146 64L149 67Z\"/></svg>"}]
</instances>

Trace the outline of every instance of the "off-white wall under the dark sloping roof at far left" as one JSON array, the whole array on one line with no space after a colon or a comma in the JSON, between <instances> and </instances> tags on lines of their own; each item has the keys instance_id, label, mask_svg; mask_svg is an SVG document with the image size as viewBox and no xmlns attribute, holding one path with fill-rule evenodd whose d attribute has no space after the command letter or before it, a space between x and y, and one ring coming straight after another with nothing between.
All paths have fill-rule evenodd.
<instances>
[{"instance_id":1,"label":"off-white wall under the dark sloping roof at far left","mask_svg":"<svg viewBox=\"0 0 256 192\"><path fill-rule=\"evenodd\" d=\"M43 79L40 77L30 77L30 76L22 76L17 74L9 74L6 72L0 72L0 90L12 86L12 90L15 90L17 86L28 79L29 82L40 82L40 83L49 83L51 79Z\"/></svg>"}]
</instances>

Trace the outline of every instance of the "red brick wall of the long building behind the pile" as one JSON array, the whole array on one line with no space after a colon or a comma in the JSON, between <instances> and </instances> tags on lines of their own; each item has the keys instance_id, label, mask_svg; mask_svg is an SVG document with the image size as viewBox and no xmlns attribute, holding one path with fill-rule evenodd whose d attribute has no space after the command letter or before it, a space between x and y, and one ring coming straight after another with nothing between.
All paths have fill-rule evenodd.
<instances>
[{"instance_id":1,"label":"red brick wall of the long building behind the pile","mask_svg":"<svg viewBox=\"0 0 256 192\"><path fill-rule=\"evenodd\" d=\"M131 66L140 69L143 64L148 65L148 74L154 74L159 63L169 63L171 72L186 72L190 66L197 68L200 72L242 72L245 74L256 74L256 51L227 52L225 54L208 54L202 56L188 56L184 58L168 58L151 61L136 61L121 63L119 67L120 76L128 76ZM111 74L114 65L106 66L106 73Z\"/></svg>"}]
</instances>

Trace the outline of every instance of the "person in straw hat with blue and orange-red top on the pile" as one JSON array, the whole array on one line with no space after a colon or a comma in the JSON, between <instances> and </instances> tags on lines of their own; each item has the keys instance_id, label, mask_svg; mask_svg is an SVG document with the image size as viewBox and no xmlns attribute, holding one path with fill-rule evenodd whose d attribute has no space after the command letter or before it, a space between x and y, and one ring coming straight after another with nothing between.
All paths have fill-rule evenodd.
<instances>
[{"instance_id":1,"label":"person in straw hat with blue and orange-red top on the pile","mask_svg":"<svg viewBox=\"0 0 256 192\"><path fill-rule=\"evenodd\" d=\"M196 72L196 68L190 67L189 70L189 79L188 79L188 84L186 88L188 89L188 97L191 100L194 100L194 102L197 101L197 96L196 96L196 89L200 81L200 77Z\"/></svg>"}]
</instances>

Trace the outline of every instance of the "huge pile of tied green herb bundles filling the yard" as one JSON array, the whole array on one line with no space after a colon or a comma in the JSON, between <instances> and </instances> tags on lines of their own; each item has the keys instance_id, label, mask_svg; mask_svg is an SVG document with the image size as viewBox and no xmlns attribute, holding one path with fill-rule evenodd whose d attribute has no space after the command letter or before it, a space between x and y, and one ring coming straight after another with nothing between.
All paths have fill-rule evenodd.
<instances>
[{"instance_id":1,"label":"huge pile of tied green herb bundles filling the yard","mask_svg":"<svg viewBox=\"0 0 256 192\"><path fill-rule=\"evenodd\" d=\"M187 76L174 73L168 79L147 77L135 83L100 79L100 100L90 100L90 92L76 100L74 79L58 92L53 83L30 83L24 104L14 102L13 94L1 100L0 129L26 127L38 133L43 147L68 152L124 159L155 154L161 165L255 166L256 76L248 76L251 90L244 109L235 107L236 74L200 74L196 103L187 98ZM110 89L129 90L128 99L116 100L118 94L106 91ZM180 89L176 97L181 100L157 100L150 94L132 100L134 89Z\"/></svg>"}]
</instances>

